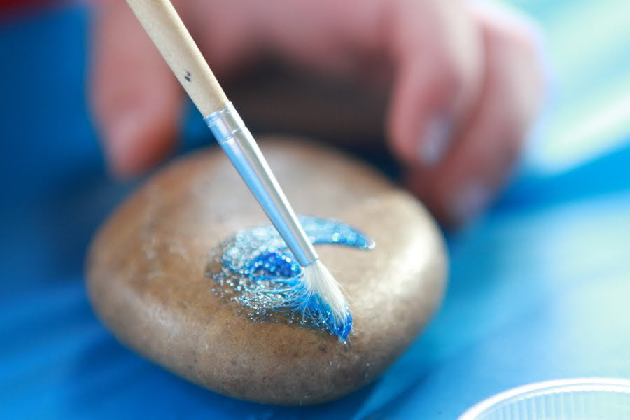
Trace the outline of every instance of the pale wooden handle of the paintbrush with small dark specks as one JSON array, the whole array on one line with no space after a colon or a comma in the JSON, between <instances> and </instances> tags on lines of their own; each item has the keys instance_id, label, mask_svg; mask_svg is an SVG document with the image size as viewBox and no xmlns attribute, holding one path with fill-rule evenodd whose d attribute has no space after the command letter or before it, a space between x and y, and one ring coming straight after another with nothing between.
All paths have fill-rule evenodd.
<instances>
[{"instance_id":1,"label":"pale wooden handle of the paintbrush with small dark specks","mask_svg":"<svg viewBox=\"0 0 630 420\"><path fill-rule=\"evenodd\" d=\"M127 0L195 106L207 117L228 103L193 37L169 0Z\"/></svg>"}]
</instances>

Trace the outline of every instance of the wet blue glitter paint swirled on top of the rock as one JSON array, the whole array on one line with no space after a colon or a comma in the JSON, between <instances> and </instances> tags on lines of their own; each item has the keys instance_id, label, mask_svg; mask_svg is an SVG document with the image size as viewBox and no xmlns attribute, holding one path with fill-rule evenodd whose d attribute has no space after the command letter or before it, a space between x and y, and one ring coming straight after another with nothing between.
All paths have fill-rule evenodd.
<instances>
[{"instance_id":1,"label":"wet blue glitter paint swirled on top of the rock","mask_svg":"<svg viewBox=\"0 0 630 420\"><path fill-rule=\"evenodd\" d=\"M301 216L300 223L313 244L339 244L370 249L374 241L346 223ZM207 275L213 291L250 309L252 321L287 321L323 328L346 341L352 316L335 322L330 307L317 295L307 295L304 272L283 239L271 226L241 230L211 252Z\"/></svg>"}]
</instances>

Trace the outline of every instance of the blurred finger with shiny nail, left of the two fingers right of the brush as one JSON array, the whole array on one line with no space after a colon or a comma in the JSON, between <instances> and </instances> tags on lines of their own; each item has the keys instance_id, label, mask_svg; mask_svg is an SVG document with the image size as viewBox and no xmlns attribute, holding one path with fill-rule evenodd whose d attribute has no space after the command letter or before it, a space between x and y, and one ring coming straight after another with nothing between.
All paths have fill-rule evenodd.
<instances>
[{"instance_id":1,"label":"blurred finger with shiny nail, left of the two fingers right of the brush","mask_svg":"<svg viewBox=\"0 0 630 420\"><path fill-rule=\"evenodd\" d=\"M432 167L449 151L482 79L481 34L454 1L402 1L391 20L395 85L388 116L393 151Z\"/></svg>"}]
</instances>

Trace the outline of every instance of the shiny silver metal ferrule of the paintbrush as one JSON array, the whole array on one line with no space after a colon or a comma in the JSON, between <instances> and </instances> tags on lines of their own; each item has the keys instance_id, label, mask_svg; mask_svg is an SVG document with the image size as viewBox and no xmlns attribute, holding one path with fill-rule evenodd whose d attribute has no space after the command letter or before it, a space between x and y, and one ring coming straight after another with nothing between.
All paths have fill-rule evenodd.
<instances>
[{"instance_id":1,"label":"shiny silver metal ferrule of the paintbrush","mask_svg":"<svg viewBox=\"0 0 630 420\"><path fill-rule=\"evenodd\" d=\"M258 144L232 105L204 118L216 141L286 242L297 262L305 267L318 258L313 244L282 192Z\"/></svg>"}]
</instances>

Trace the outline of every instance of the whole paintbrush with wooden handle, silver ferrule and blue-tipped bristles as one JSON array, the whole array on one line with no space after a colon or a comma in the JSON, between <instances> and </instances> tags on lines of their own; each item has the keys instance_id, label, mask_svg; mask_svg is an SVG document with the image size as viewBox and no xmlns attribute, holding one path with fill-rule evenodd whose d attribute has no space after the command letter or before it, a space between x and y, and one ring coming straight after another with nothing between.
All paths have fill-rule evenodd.
<instances>
[{"instance_id":1,"label":"whole paintbrush with wooden handle, silver ferrule and blue-tipped bristles","mask_svg":"<svg viewBox=\"0 0 630 420\"><path fill-rule=\"evenodd\" d=\"M302 309L314 305L327 311L323 317L333 321L337 329L350 328L351 316L339 284L319 260L258 144L228 101L172 3L169 0L127 0L127 3L303 267L298 288Z\"/></svg>"}]
</instances>

